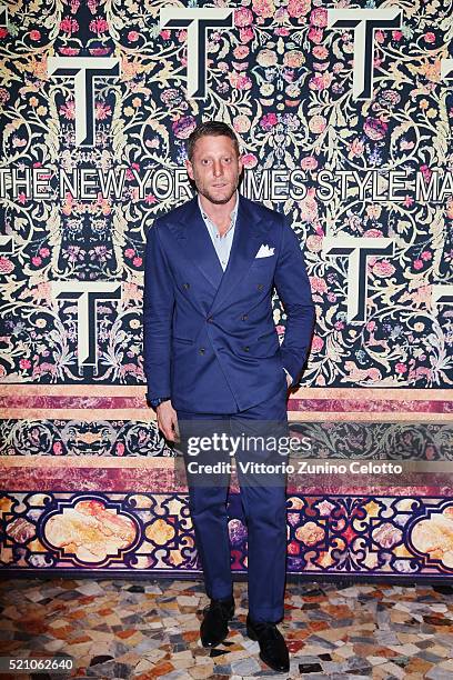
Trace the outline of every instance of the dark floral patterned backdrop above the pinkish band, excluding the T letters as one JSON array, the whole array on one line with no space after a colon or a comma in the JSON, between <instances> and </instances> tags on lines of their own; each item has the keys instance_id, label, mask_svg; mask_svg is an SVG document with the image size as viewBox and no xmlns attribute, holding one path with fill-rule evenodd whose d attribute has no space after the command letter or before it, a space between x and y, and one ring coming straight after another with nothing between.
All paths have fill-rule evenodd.
<instances>
[{"instance_id":1,"label":"dark floral patterned backdrop above the pinkish band, excluding the T letters","mask_svg":"<svg viewBox=\"0 0 453 680\"><path fill-rule=\"evenodd\" d=\"M14 252L0 261L2 379L69 383L82 372L88 382L143 382L143 242L153 218L181 198L160 198L162 189L158 198L150 187L140 199L135 178L183 168L197 121L219 118L238 132L250 172L305 171L302 200L272 202L304 243L318 307L303 384L449 387L451 310L433 307L431 289L452 281L451 191L442 201L417 201L410 191L397 201L341 201L338 192L323 201L315 188L320 170L363 177L373 169L383 182L389 168L422 172L426 181L451 171L452 100L441 60L452 3L381 3L401 7L402 26L375 32L374 97L365 101L352 94L353 31L329 30L325 3L309 0L230 3L238 7L235 28L209 33L207 98L187 99L187 30L160 30L159 11L169 4L183 3L6 3L1 167L49 168L53 179L47 200L22 189L16 200L7 191L1 203L3 233L14 234ZM120 78L97 80L94 147L74 146L73 81L49 76L54 56L120 60ZM59 171L81 168L115 177L123 170L121 198L60 198ZM366 323L348 322L346 262L322 251L323 238L339 232L394 241L392 257L368 261ZM77 310L52 293L61 280L122 284L121 300L98 309L95 374L78 366ZM276 300L275 322L283 332Z\"/></svg>"}]
</instances>

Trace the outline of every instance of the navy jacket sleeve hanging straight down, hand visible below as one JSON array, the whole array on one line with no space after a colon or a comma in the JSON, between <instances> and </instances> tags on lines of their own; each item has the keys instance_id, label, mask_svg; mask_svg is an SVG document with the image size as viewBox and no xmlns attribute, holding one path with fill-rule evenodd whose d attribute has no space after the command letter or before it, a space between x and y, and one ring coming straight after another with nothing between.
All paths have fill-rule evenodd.
<instances>
[{"instance_id":1,"label":"navy jacket sleeve hanging straight down, hand visible below","mask_svg":"<svg viewBox=\"0 0 453 680\"><path fill-rule=\"evenodd\" d=\"M148 399L171 397L173 281L157 220L148 231L143 293L143 368Z\"/></svg>"}]
</instances>

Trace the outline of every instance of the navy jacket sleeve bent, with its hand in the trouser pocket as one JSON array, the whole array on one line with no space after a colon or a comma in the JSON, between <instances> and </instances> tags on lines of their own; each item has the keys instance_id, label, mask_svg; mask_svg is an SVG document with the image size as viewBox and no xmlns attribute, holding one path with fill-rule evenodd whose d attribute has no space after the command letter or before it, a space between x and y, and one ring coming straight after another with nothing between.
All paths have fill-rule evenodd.
<instances>
[{"instance_id":1,"label":"navy jacket sleeve bent, with its hand in the trouser pocket","mask_svg":"<svg viewBox=\"0 0 453 680\"><path fill-rule=\"evenodd\" d=\"M310 350L315 312L299 239L285 221L274 283L286 313L286 328L280 351L293 387L299 381Z\"/></svg>"}]
</instances>

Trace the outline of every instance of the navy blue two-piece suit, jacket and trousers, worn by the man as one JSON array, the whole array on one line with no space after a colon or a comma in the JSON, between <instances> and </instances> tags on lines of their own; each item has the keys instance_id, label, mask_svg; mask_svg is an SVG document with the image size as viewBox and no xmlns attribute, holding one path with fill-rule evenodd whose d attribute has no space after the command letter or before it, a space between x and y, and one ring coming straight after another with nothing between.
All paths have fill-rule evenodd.
<instances>
[{"instance_id":1,"label":"navy blue two-piece suit, jacket and trousers, worn by the man","mask_svg":"<svg viewBox=\"0 0 453 680\"><path fill-rule=\"evenodd\" d=\"M269 257L255 257L261 247ZM281 347L273 287L286 313ZM240 197L224 272L197 199L158 218L148 233L143 311L148 397L171 397L179 421L205 418L235 427L286 421L283 368L295 383L310 347L314 307L299 240L283 216ZM278 620L283 613L281 482L241 486L254 620ZM213 598L231 594L226 491L228 476L215 488L190 487L197 546Z\"/></svg>"}]
</instances>

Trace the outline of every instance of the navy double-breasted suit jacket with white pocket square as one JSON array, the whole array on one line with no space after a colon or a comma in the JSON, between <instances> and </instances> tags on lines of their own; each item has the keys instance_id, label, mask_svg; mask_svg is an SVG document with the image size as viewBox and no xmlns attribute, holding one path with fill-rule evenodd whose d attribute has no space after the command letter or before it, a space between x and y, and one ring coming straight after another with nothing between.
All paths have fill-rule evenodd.
<instances>
[{"instance_id":1,"label":"navy double-breasted suit jacket with white pocket square","mask_svg":"<svg viewBox=\"0 0 453 680\"><path fill-rule=\"evenodd\" d=\"M259 257L256 257L259 256ZM197 198L148 233L144 370L148 398L175 410L234 413L265 401L305 362L314 307L299 240L282 214L239 197L223 271ZM272 292L286 313L280 346Z\"/></svg>"}]
</instances>

